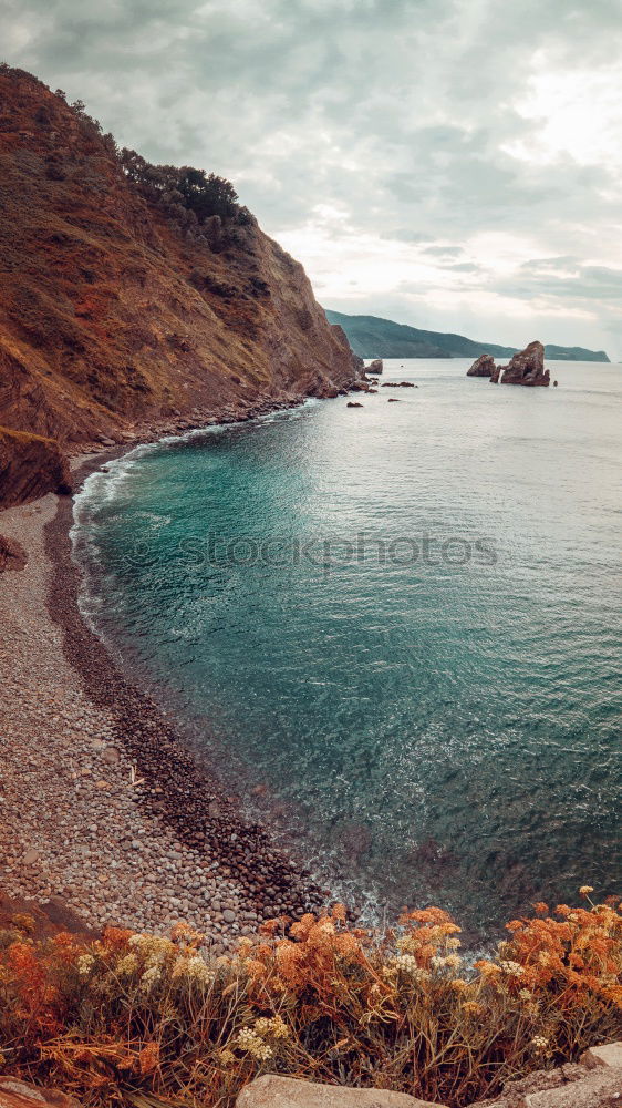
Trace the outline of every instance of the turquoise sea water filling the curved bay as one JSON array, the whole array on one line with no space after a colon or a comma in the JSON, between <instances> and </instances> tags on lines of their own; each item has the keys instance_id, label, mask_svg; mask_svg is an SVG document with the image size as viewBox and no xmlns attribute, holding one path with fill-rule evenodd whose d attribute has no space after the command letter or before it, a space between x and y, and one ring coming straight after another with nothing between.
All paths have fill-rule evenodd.
<instances>
[{"instance_id":1,"label":"turquoise sea water filling the curved bay","mask_svg":"<svg viewBox=\"0 0 622 1108\"><path fill-rule=\"evenodd\" d=\"M74 537L94 625L252 811L356 903L486 930L620 874L622 371L467 365L139 448Z\"/></svg>"}]
</instances>

